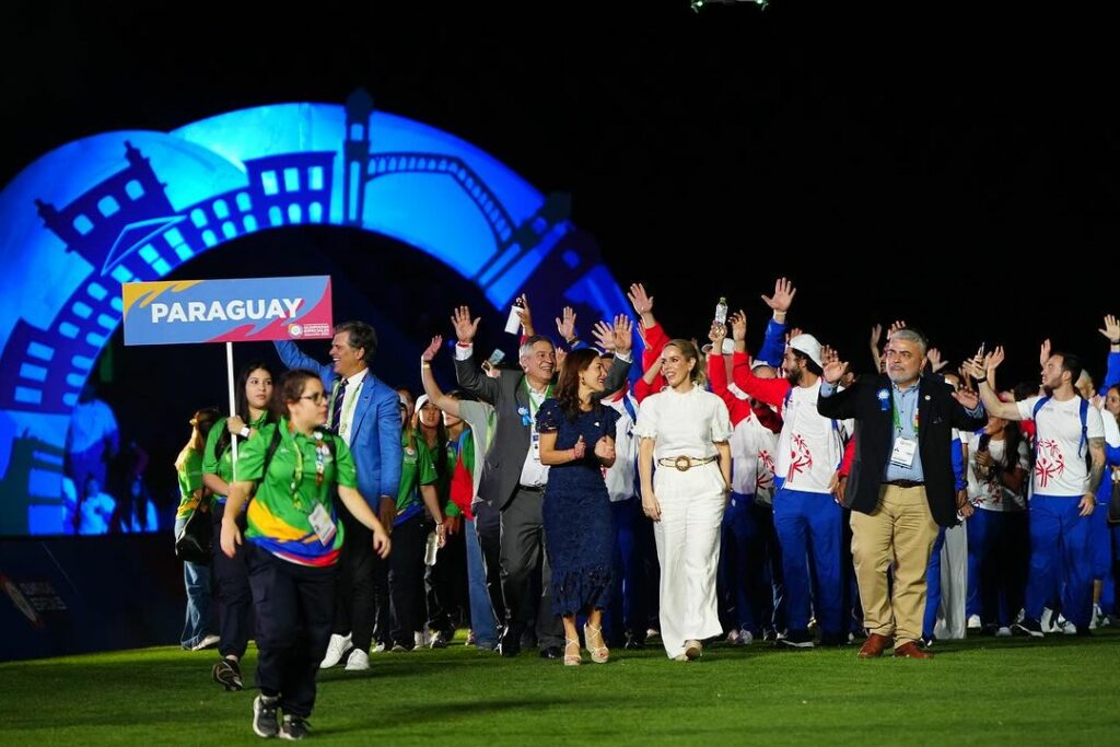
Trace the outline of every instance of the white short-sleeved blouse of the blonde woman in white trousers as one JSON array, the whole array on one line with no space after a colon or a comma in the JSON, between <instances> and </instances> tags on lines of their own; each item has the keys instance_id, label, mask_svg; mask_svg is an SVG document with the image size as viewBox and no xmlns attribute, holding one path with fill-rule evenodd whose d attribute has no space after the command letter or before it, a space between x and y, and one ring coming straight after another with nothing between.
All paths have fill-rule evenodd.
<instances>
[{"instance_id":1,"label":"white short-sleeved blouse of the blonde woman in white trousers","mask_svg":"<svg viewBox=\"0 0 1120 747\"><path fill-rule=\"evenodd\" d=\"M681 394L665 389L642 401L634 436L656 440L655 459L716 456L716 443L731 437L731 418L724 400L693 386Z\"/></svg>"}]
</instances>

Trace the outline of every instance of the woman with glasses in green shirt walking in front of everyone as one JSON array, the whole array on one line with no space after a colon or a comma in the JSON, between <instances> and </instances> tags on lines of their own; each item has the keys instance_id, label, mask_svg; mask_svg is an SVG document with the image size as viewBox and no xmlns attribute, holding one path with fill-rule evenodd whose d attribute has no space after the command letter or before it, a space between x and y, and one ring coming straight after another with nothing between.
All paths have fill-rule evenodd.
<instances>
[{"instance_id":1,"label":"woman with glasses in green shirt walking in front of everyone","mask_svg":"<svg viewBox=\"0 0 1120 747\"><path fill-rule=\"evenodd\" d=\"M357 492L354 458L345 441L321 428L327 395L310 371L288 371L267 424L237 457L222 521L222 552L249 562L259 651L253 731L301 739L315 706L315 676L334 624L335 564L344 529L332 496L373 532L373 549L389 555L389 534ZM242 532L236 516L255 489ZM239 549L240 547L240 549ZM283 722L278 719L283 711Z\"/></svg>"}]
</instances>

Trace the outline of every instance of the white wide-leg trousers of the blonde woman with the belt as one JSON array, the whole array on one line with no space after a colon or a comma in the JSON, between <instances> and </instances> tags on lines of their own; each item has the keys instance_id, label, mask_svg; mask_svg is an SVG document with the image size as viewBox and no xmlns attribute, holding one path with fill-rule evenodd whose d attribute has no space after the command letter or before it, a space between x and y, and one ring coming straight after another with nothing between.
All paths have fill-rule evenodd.
<instances>
[{"instance_id":1,"label":"white wide-leg trousers of the blonde woman with the belt","mask_svg":"<svg viewBox=\"0 0 1120 747\"><path fill-rule=\"evenodd\" d=\"M724 478L715 461L683 473L659 467L654 494L661 504L661 521L653 525L661 563L661 641L673 659L684 653L685 641L724 632L716 605Z\"/></svg>"}]
</instances>

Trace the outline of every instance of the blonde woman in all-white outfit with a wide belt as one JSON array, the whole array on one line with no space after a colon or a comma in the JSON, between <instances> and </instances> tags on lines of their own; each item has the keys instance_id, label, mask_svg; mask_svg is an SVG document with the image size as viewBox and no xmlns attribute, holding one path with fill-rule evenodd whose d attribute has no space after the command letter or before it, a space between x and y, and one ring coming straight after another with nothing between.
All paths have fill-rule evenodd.
<instances>
[{"instance_id":1,"label":"blonde woman in all-white outfit with a wide belt","mask_svg":"<svg viewBox=\"0 0 1120 747\"><path fill-rule=\"evenodd\" d=\"M724 401L703 390L696 345L674 339L661 362L669 386L642 402L634 435L642 439L642 510L654 522L661 562L661 639L670 659L691 661L701 641L724 632L716 569L731 483L731 420Z\"/></svg>"}]
</instances>

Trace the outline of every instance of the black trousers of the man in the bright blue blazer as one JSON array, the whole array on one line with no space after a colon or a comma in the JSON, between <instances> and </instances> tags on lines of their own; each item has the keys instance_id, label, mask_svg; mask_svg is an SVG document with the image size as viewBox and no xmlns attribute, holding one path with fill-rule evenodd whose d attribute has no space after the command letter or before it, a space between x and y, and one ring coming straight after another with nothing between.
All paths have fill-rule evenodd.
<instances>
[{"instance_id":1,"label":"black trousers of the man in the bright blue blazer","mask_svg":"<svg viewBox=\"0 0 1120 747\"><path fill-rule=\"evenodd\" d=\"M342 501L335 501L335 511L346 538L338 559L334 633L349 633L354 647L368 653L377 609L374 577L380 558L373 552L373 532L354 519Z\"/></svg>"}]
</instances>

